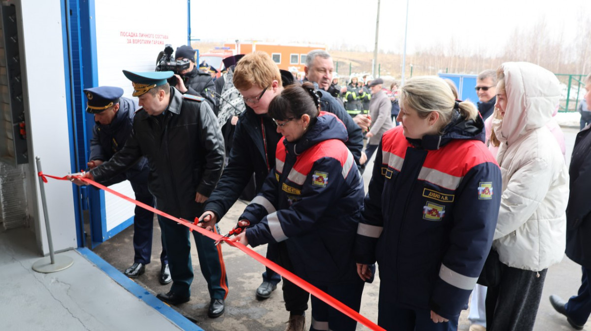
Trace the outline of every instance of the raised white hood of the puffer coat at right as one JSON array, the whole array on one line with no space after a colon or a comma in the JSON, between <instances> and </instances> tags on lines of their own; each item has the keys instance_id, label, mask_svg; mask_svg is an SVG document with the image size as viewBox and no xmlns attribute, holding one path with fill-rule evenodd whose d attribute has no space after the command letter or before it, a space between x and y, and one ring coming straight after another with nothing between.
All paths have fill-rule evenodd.
<instances>
[{"instance_id":1,"label":"raised white hood of the puffer coat at right","mask_svg":"<svg viewBox=\"0 0 591 331\"><path fill-rule=\"evenodd\" d=\"M540 128L552 118L560 100L560 83L556 76L533 63L506 62L505 73L507 106L496 136L511 145L531 129Z\"/></svg>"}]
</instances>

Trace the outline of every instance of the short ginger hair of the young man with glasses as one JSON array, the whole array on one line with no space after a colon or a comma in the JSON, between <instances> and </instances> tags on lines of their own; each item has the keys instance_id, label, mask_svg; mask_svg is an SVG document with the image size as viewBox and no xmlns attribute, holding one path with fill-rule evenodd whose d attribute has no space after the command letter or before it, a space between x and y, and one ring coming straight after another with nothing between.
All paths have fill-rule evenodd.
<instances>
[{"instance_id":1,"label":"short ginger hair of the young man with glasses","mask_svg":"<svg viewBox=\"0 0 591 331\"><path fill-rule=\"evenodd\" d=\"M253 85L264 89L271 85L273 80L277 80L281 86L279 67L269 54L263 51L246 54L234 69L233 83L239 90L248 90Z\"/></svg>"}]
</instances>

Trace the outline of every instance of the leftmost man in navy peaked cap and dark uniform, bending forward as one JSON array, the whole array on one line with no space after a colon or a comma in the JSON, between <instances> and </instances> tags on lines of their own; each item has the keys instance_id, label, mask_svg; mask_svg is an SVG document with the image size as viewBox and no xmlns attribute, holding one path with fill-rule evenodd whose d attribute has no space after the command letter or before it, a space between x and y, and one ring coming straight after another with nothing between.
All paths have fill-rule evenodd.
<instances>
[{"instance_id":1,"label":"leftmost man in navy peaked cap and dark uniform, bending forward","mask_svg":"<svg viewBox=\"0 0 591 331\"><path fill-rule=\"evenodd\" d=\"M86 112L95 116L95 126L90 139L89 169L100 166L120 151L131 134L137 104L128 98L122 98L121 87L99 86L85 89ZM124 173L105 179L101 184L110 186L129 180L135 193L135 200L154 206L154 197L148 190L148 161L142 157L138 163ZM145 265L150 263L152 255L152 228L154 213L142 207L135 207L134 216L134 264L124 271L129 278L137 278L145 272ZM172 281L168 270L166 249L160 254L160 284Z\"/></svg>"}]
</instances>

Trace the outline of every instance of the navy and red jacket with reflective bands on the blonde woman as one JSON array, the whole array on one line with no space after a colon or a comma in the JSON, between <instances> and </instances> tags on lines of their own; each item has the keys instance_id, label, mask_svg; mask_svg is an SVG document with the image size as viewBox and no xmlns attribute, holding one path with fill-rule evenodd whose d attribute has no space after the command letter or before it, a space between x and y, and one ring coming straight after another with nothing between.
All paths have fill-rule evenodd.
<instances>
[{"instance_id":1,"label":"navy and red jacket with reflective bands on the blonde woman","mask_svg":"<svg viewBox=\"0 0 591 331\"><path fill-rule=\"evenodd\" d=\"M355 245L378 262L380 298L457 319L489 254L501 170L483 144L482 118L454 110L443 135L382 136Z\"/></svg>"}]
</instances>

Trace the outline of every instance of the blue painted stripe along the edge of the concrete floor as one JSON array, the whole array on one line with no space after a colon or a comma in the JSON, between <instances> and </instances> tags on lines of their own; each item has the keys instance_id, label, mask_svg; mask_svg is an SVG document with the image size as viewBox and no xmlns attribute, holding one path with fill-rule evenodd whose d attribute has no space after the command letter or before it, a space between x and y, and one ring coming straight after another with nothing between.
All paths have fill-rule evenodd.
<instances>
[{"instance_id":1,"label":"blue painted stripe along the edge of the concrete floor","mask_svg":"<svg viewBox=\"0 0 591 331\"><path fill-rule=\"evenodd\" d=\"M76 251L82 254L83 257L88 259L90 262L95 264L96 267L98 267L100 270L104 271L119 285L124 287L130 293L134 294L134 296L138 297L140 300L144 301L146 304L148 304L148 306L154 308L154 310L158 311L158 313L163 314L164 317L166 317L168 320L171 320L171 322L173 322L174 324L177 324L181 329L190 331L204 331L195 323L191 322L182 314L178 313L178 311L172 309L167 304L158 300L158 298L156 298L155 296L152 296L152 294L148 292L145 288L135 283L135 281L129 279L121 271L117 270L111 264L108 264L108 262L99 257L99 255L96 255L94 252L90 251L90 249L77 248Z\"/></svg>"}]
</instances>

